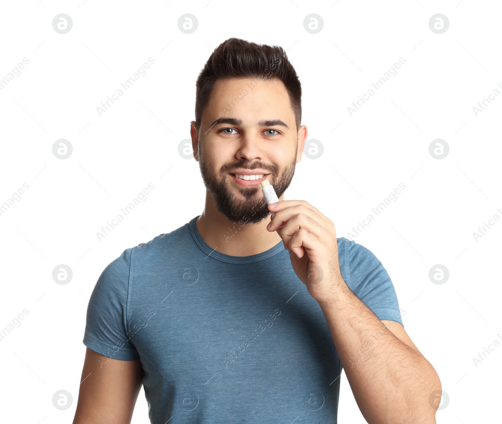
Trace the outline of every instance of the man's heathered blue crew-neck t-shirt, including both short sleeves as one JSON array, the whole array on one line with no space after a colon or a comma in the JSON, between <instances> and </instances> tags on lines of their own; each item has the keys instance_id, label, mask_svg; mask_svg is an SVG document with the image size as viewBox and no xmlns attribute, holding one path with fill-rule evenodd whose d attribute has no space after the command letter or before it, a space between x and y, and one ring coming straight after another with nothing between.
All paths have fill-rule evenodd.
<instances>
[{"instance_id":1,"label":"man's heathered blue crew-neck t-shirt, including both short sleeves","mask_svg":"<svg viewBox=\"0 0 502 424\"><path fill-rule=\"evenodd\" d=\"M222 254L202 239L196 218L106 266L84 345L140 358L153 424L336 422L340 359L283 242L251 256ZM402 324L380 260L337 241L348 287L380 320Z\"/></svg>"}]
</instances>

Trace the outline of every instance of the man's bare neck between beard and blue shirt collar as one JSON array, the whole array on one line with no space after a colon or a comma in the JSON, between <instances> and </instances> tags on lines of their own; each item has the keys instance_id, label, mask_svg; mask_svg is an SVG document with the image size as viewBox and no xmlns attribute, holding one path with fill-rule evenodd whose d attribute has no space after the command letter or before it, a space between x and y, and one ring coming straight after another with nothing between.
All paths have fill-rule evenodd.
<instances>
[{"instance_id":1,"label":"man's bare neck between beard and blue shirt collar","mask_svg":"<svg viewBox=\"0 0 502 424\"><path fill-rule=\"evenodd\" d=\"M283 200L283 196L279 200ZM276 232L267 230L269 218L258 224L229 221L216 209L213 197L206 190L202 214L195 221L202 239L217 252L230 256L250 256L265 252L282 241Z\"/></svg>"}]
</instances>

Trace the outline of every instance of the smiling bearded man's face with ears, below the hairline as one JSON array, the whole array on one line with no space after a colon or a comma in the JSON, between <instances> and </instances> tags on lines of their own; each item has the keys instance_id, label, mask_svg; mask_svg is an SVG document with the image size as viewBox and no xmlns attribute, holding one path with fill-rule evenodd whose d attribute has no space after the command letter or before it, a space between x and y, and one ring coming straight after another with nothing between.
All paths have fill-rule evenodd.
<instances>
[{"instance_id":1,"label":"smiling bearded man's face with ears, below the hairline","mask_svg":"<svg viewBox=\"0 0 502 424\"><path fill-rule=\"evenodd\" d=\"M218 212L231 222L263 221L270 212L261 182L269 180L280 198L291 183L307 136L304 125L296 130L282 81L219 79L199 131L195 121L192 124L194 154L198 151L196 160Z\"/></svg>"}]
</instances>

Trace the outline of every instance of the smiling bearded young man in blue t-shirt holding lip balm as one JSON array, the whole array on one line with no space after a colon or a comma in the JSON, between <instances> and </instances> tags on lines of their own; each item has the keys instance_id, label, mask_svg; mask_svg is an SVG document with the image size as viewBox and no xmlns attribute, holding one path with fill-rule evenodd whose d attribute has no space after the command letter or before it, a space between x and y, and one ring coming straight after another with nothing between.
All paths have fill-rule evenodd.
<instances>
[{"instance_id":1,"label":"smiling bearded young man in blue t-shirt holding lip balm","mask_svg":"<svg viewBox=\"0 0 502 424\"><path fill-rule=\"evenodd\" d=\"M283 200L307 139L284 50L226 40L195 115L204 211L100 275L74 423L129 423L142 384L154 424L336 422L342 366L369 423L435 422L441 384L382 263Z\"/></svg>"}]
</instances>

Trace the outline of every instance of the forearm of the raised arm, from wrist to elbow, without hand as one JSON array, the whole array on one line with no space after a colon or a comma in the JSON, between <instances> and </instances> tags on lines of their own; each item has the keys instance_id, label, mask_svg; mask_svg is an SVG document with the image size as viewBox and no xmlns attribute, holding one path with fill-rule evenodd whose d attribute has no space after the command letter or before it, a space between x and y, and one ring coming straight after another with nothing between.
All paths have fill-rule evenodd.
<instances>
[{"instance_id":1,"label":"forearm of the raised arm, from wrist to elbow, without hand","mask_svg":"<svg viewBox=\"0 0 502 424\"><path fill-rule=\"evenodd\" d=\"M441 385L432 365L387 329L343 280L336 288L333 300L319 305L366 421L435 423L429 395Z\"/></svg>"}]
</instances>

